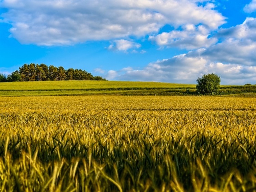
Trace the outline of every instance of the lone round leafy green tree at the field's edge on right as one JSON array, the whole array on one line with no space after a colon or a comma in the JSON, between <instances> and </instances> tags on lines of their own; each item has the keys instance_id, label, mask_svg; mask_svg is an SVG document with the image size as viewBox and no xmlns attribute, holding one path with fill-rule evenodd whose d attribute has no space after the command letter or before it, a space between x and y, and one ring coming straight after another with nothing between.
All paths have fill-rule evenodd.
<instances>
[{"instance_id":1,"label":"lone round leafy green tree at the field's edge on right","mask_svg":"<svg viewBox=\"0 0 256 192\"><path fill-rule=\"evenodd\" d=\"M208 94L216 94L219 85L220 85L220 77L214 73L203 75L202 78L197 79L198 85L196 85L196 89L198 93L203 95Z\"/></svg>"}]
</instances>

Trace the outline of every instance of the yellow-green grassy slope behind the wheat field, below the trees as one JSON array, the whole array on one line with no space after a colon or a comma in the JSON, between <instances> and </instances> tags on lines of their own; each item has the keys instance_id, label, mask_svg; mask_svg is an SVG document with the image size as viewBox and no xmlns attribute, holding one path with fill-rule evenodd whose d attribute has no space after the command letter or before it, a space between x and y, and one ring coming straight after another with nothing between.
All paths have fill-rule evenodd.
<instances>
[{"instance_id":1,"label":"yellow-green grassy slope behind the wheat field, below the trees","mask_svg":"<svg viewBox=\"0 0 256 192\"><path fill-rule=\"evenodd\" d=\"M221 86L219 95L256 93L256 86ZM45 81L0 83L0 96L196 95L196 85L123 81ZM249 94L252 97L254 94ZM254 97L254 96L253 96Z\"/></svg>"}]
</instances>

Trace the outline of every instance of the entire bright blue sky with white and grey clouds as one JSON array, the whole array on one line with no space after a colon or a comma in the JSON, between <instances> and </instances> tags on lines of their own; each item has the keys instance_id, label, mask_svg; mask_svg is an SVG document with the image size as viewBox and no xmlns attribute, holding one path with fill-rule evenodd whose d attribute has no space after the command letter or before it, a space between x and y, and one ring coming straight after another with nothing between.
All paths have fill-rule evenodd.
<instances>
[{"instance_id":1,"label":"entire bright blue sky with white and grey clouds","mask_svg":"<svg viewBox=\"0 0 256 192\"><path fill-rule=\"evenodd\" d=\"M0 0L0 73L23 64L108 80L256 84L256 0Z\"/></svg>"}]
</instances>

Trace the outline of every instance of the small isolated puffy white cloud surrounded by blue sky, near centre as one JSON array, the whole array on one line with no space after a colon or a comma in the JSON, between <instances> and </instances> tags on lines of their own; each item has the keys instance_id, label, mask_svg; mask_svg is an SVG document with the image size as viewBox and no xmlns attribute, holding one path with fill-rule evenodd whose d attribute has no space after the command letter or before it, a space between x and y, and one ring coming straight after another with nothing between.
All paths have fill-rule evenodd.
<instances>
[{"instance_id":1,"label":"small isolated puffy white cloud surrounded by blue sky, near centre","mask_svg":"<svg viewBox=\"0 0 256 192\"><path fill-rule=\"evenodd\" d=\"M128 49L138 49L140 47L141 47L141 44L139 43L120 39L120 40L115 40L114 43L108 47L108 49L126 52Z\"/></svg>"}]
</instances>

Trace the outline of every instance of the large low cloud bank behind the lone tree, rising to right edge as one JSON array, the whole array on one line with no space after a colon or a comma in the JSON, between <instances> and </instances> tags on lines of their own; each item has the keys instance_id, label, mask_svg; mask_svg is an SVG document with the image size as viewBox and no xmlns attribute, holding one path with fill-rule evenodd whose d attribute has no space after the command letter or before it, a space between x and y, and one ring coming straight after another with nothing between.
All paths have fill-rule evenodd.
<instances>
[{"instance_id":1,"label":"large low cloud bank behind the lone tree, rising to right edge","mask_svg":"<svg viewBox=\"0 0 256 192\"><path fill-rule=\"evenodd\" d=\"M189 30L196 27L189 26ZM115 80L196 83L203 74L216 73L222 84L256 83L256 18L221 29L219 43L186 54L149 63L142 70L116 71Z\"/></svg>"}]
</instances>

